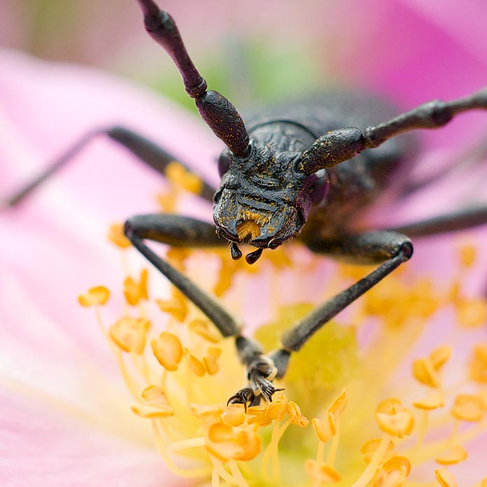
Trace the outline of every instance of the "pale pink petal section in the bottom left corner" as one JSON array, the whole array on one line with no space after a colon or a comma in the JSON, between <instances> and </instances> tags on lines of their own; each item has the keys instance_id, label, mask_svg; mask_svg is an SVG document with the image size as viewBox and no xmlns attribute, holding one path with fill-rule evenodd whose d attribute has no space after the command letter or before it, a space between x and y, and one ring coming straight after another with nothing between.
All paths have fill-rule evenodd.
<instances>
[{"instance_id":1,"label":"pale pink petal section in the bottom left corner","mask_svg":"<svg viewBox=\"0 0 487 487\"><path fill-rule=\"evenodd\" d=\"M101 430L31 397L0 391L0 430L5 486L184 485L164 468L150 442L130 441L123 430Z\"/></svg>"}]
</instances>

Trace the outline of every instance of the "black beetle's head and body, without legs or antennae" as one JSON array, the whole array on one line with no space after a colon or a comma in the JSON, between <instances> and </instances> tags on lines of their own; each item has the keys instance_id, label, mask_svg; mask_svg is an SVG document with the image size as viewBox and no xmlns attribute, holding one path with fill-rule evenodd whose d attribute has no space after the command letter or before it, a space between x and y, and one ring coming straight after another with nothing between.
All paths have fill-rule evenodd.
<instances>
[{"instance_id":1,"label":"black beetle's head and body, without legs or antennae","mask_svg":"<svg viewBox=\"0 0 487 487\"><path fill-rule=\"evenodd\" d=\"M411 135L311 175L299 170L300 157L320 134L367 127L393 113L377 97L337 90L249 111L250 154L232 158L225 149L220 155L213 213L220 234L260 248L276 248L300 233L305 242L317 232L323 239L339 237L411 155Z\"/></svg>"}]
</instances>

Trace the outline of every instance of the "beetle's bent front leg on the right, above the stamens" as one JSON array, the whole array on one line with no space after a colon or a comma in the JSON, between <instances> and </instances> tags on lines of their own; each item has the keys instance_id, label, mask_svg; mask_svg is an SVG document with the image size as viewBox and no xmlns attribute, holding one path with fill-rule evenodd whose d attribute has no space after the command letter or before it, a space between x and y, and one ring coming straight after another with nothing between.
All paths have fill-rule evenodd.
<instances>
[{"instance_id":1,"label":"beetle's bent front leg on the right, above the stamens","mask_svg":"<svg viewBox=\"0 0 487 487\"><path fill-rule=\"evenodd\" d=\"M360 264L382 262L365 278L349 288L339 292L325 304L305 316L295 327L286 332L282 339L283 348L271 355L278 372L276 377L281 378L288 366L290 353L298 351L313 334L346 308L358 297L374 287L390 272L400 266L402 262L411 257L413 246L411 240L397 232L379 231L369 232L357 236L344 237L337 241L307 242L311 250L326 253L337 258Z\"/></svg>"}]
</instances>

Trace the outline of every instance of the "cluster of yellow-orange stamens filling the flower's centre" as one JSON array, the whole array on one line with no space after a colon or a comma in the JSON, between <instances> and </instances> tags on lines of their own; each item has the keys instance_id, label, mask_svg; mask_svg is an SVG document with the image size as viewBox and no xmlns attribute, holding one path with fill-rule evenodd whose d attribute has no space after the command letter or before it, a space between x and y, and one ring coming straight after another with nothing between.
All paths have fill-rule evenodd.
<instances>
[{"instance_id":1,"label":"cluster of yellow-orange stamens filling the flower's centre","mask_svg":"<svg viewBox=\"0 0 487 487\"><path fill-rule=\"evenodd\" d=\"M111 239L120 241L115 230ZM299 296L302 276L312 274L320 258L297 245L267 254L253 267L229 262L220 250L171 249L167 258L241 316L246 286L253 295L267 282L262 316L268 324L255 336L268 350L316 299L323 302L365 274L327 264L313 303L290 304L292 292L281 291L294 283ZM474 260L463 246L458 278L442 289L407 269L393 274L292 355L288 373L277 381L283 392L247 408L226 404L245 385L234 341L220 337L181 292L151 295L146 271L125 278L126 306L109 326L99 310L108 290L92 288L80 303L97 310L132 395L127 408L140 416L141 428L152 430L162 461L180 477L213 487L464 486L451 465L468 469L470 442L487 435L487 341L473 346L464 362L456 357L461 339L437 337L423 355L414 349L447 308L456 316L449 337L485 325L486 301L465 297L459 284ZM487 470L478 477L475 486L487 485Z\"/></svg>"}]
</instances>

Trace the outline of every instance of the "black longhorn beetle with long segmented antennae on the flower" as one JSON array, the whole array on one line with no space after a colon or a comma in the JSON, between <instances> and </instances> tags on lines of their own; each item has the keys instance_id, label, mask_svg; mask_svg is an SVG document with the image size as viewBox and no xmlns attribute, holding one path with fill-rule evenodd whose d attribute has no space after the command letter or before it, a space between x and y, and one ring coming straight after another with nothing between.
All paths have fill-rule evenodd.
<instances>
[{"instance_id":1,"label":"black longhorn beetle with long segmented antennae on the flower","mask_svg":"<svg viewBox=\"0 0 487 487\"><path fill-rule=\"evenodd\" d=\"M261 397L271 401L278 390L272 381L285 374L290 354L299 351L339 311L408 260L413 253L409 237L487 223L487 206L480 206L388 230L357 233L351 225L358 210L370 204L404 164L407 141L395 137L414 129L442 127L458 113L487 109L487 88L453 101L430 101L394 118L390 108L378 99L334 92L259 109L244 123L230 101L206 89L206 81L186 52L171 15L159 10L153 0L138 2L146 30L171 56L199 114L226 148L218 160L220 187L215 190L204 182L201 190L203 199L213 201L214 225L178 215L141 215L127 220L125 234L208 316L223 337L234 337L248 372L248 386L229 402L246 407L258 404ZM387 121L372 125L381 119ZM10 197L8 204L14 205L28 195L99 133L81 139ZM123 127L101 133L161 174L174 160L162 148ZM248 264L253 264L262 250L275 249L298 236L313 252L377 267L292 327L282 339L282 348L269 356L262 353L259 344L241 335L230 313L144 242L148 239L184 247L228 243L235 260L242 256L239 244L248 243L256 249L246 255Z\"/></svg>"}]
</instances>

